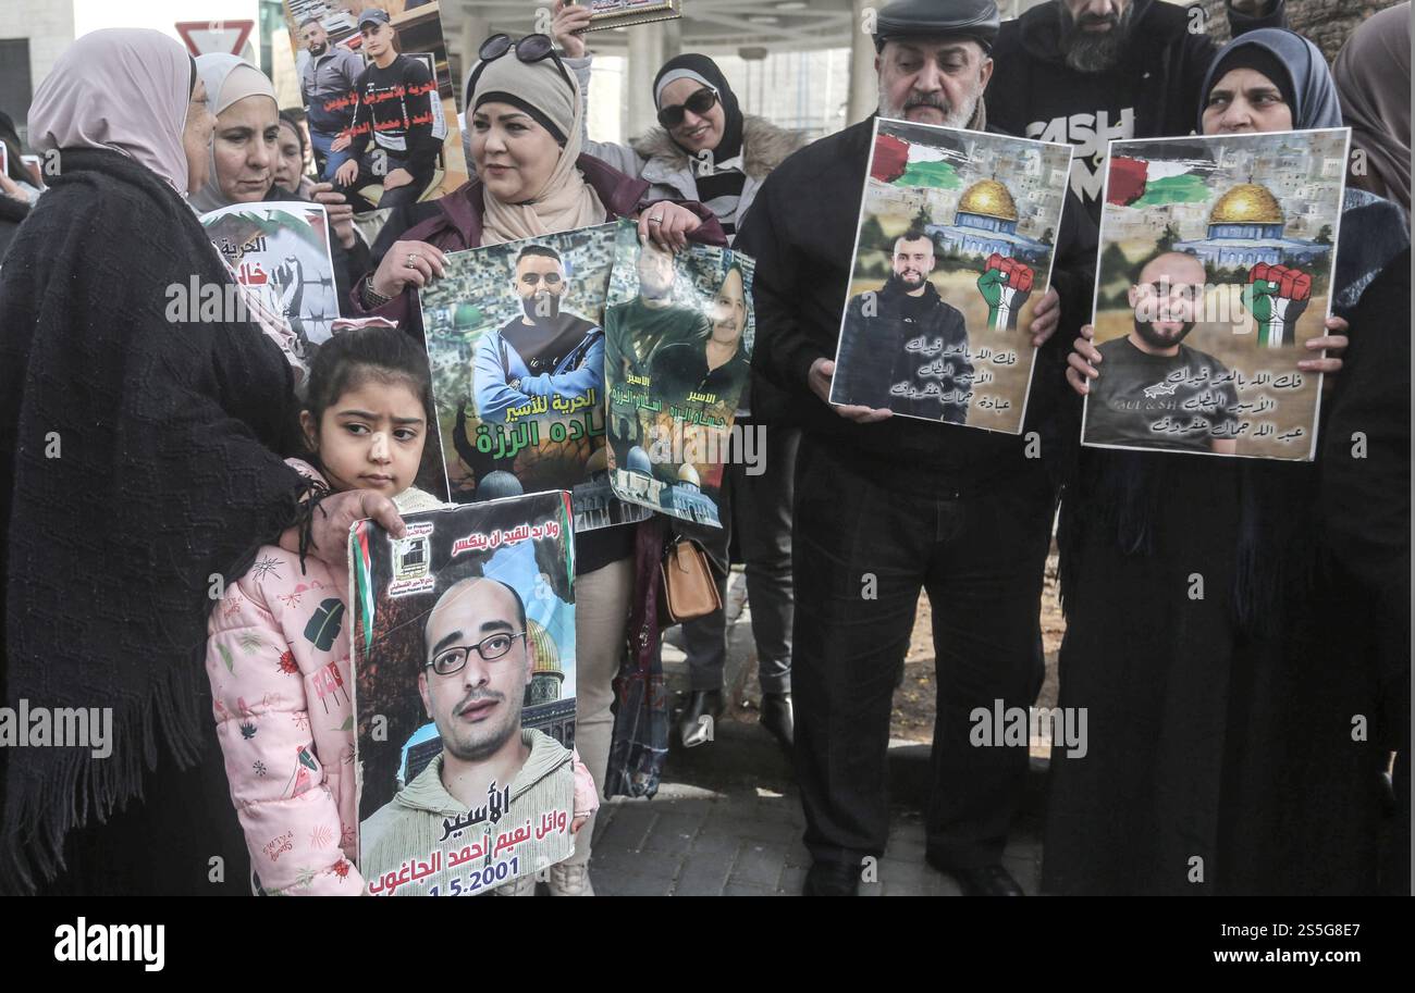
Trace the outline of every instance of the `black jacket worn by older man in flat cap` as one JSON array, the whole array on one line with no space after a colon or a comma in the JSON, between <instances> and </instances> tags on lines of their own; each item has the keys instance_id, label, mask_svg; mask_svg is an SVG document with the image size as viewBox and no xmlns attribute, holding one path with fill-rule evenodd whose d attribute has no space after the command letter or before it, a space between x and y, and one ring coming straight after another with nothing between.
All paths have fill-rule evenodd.
<instances>
[{"instance_id":1,"label":"black jacket worn by older man in flat cap","mask_svg":"<svg viewBox=\"0 0 1415 993\"><path fill-rule=\"evenodd\" d=\"M873 129L870 116L788 157L767 177L739 231L734 248L757 260L753 414L826 437L862 465L908 467L920 478L959 491L1034 467L1026 448L1027 434L1036 430L1041 461L1056 481L1074 447L1058 413L1060 392L1070 389L1065 352L1091 315L1095 284L1095 225L1073 195L1061 214L1051 273L1061 320L1037 351L1022 434L941 427L913 417L857 424L811 392L811 364L833 359L839 342Z\"/></svg>"}]
</instances>

